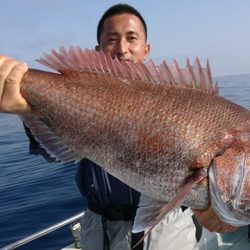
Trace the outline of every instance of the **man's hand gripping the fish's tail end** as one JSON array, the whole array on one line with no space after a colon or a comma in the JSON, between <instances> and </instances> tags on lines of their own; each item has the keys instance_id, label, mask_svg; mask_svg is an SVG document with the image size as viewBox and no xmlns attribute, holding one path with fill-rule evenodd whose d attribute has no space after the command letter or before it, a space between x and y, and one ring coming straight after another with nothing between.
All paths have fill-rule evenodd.
<instances>
[{"instance_id":1,"label":"man's hand gripping the fish's tail end","mask_svg":"<svg viewBox=\"0 0 250 250\"><path fill-rule=\"evenodd\" d=\"M20 83L27 70L25 63L0 55L0 112L34 113L20 93Z\"/></svg>"}]
</instances>

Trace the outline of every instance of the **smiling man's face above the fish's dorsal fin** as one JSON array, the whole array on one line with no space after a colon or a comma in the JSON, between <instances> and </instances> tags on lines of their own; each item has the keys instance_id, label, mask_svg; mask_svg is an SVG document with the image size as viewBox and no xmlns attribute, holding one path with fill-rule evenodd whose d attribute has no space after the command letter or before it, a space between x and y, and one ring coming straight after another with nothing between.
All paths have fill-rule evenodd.
<instances>
[{"instance_id":1,"label":"smiling man's face above the fish's dorsal fin","mask_svg":"<svg viewBox=\"0 0 250 250\"><path fill-rule=\"evenodd\" d=\"M103 24L100 45L97 50L109 52L119 60L134 63L146 59L150 46L140 19L131 14L119 14L107 18Z\"/></svg>"}]
</instances>

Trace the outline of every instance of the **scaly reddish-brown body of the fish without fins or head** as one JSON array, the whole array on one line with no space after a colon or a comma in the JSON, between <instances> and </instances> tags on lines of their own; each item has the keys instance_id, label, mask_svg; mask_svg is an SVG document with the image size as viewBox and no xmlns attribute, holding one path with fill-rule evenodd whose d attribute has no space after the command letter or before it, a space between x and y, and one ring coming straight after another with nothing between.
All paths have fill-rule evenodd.
<instances>
[{"instance_id":1,"label":"scaly reddish-brown body of the fish without fins or head","mask_svg":"<svg viewBox=\"0 0 250 250\"><path fill-rule=\"evenodd\" d=\"M29 71L21 91L80 157L163 201L228 147L228 131L250 121L247 109L223 97L97 73ZM201 189L189 206L207 206L208 187Z\"/></svg>"}]
</instances>

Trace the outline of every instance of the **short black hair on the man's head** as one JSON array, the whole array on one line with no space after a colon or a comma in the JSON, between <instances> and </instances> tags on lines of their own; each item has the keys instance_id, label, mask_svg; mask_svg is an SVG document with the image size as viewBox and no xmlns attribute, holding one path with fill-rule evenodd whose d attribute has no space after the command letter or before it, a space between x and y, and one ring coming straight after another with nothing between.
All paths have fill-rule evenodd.
<instances>
[{"instance_id":1,"label":"short black hair on the man's head","mask_svg":"<svg viewBox=\"0 0 250 250\"><path fill-rule=\"evenodd\" d=\"M116 4L116 5L111 6L102 15L102 17L97 25L97 42L99 45L100 45L100 40L101 40L101 34L103 31L104 21L107 18L112 17L112 16L117 15L117 14L132 14L132 15L137 16L142 22L144 32L145 32L145 40L147 41L147 25L146 25L144 18L140 14L140 12L128 4L121 3L121 4Z\"/></svg>"}]
</instances>

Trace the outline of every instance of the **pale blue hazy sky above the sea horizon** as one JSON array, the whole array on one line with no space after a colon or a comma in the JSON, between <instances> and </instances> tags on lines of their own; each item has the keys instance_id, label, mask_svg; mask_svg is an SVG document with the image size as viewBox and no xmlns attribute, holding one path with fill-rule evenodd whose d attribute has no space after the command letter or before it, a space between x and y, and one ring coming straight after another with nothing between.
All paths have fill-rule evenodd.
<instances>
[{"instance_id":1,"label":"pale blue hazy sky above the sea horizon","mask_svg":"<svg viewBox=\"0 0 250 250\"><path fill-rule=\"evenodd\" d=\"M155 63L208 59L213 76L250 73L249 0L122 1L148 26ZM0 0L0 54L41 68L35 61L59 46L94 48L103 12L120 1Z\"/></svg>"}]
</instances>

